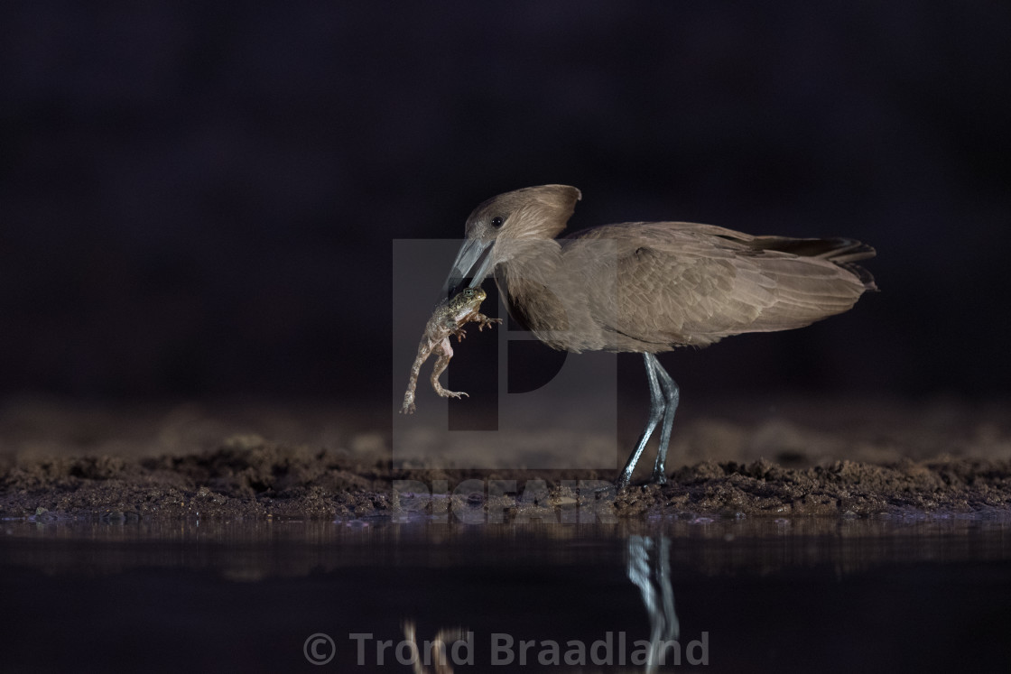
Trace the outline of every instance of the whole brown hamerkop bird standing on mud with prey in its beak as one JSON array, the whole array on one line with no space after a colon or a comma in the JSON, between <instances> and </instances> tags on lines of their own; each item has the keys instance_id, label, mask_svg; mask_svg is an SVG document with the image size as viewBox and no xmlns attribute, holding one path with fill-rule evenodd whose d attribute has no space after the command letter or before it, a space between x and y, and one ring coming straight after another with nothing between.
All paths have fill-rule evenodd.
<instances>
[{"instance_id":1,"label":"whole brown hamerkop bird standing on mud with prey in its beak","mask_svg":"<svg viewBox=\"0 0 1011 674\"><path fill-rule=\"evenodd\" d=\"M656 354L731 334L802 327L856 303L875 281L850 238L752 236L693 222L606 224L555 236L581 198L567 185L500 194L467 218L447 296L493 273L510 315L553 349L635 352L646 361L649 420L618 477L628 486L657 423L651 481L664 464L678 389Z\"/></svg>"}]
</instances>

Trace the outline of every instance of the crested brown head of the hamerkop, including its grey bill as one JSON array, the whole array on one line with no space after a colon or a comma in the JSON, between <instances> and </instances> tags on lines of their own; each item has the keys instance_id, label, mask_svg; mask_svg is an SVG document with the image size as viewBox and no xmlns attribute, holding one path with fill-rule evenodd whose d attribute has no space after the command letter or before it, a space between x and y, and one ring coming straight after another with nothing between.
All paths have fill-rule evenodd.
<instances>
[{"instance_id":1,"label":"crested brown head of the hamerkop, including its grey bill","mask_svg":"<svg viewBox=\"0 0 1011 674\"><path fill-rule=\"evenodd\" d=\"M541 185L499 194L479 205L467 218L466 239L443 295L452 297L463 287L481 285L496 264L509 259L512 247L499 242L554 238L565 228L581 196L568 185Z\"/></svg>"}]
</instances>

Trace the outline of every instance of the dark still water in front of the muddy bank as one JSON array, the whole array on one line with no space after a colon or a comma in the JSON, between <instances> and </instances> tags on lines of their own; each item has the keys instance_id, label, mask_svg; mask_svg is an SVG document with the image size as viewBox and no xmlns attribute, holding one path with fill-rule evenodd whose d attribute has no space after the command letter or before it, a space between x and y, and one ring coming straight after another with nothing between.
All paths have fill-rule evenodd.
<instances>
[{"instance_id":1,"label":"dark still water in front of the muddy bank","mask_svg":"<svg viewBox=\"0 0 1011 674\"><path fill-rule=\"evenodd\" d=\"M459 629L458 672L1011 663L1007 516L6 520L0 534L5 671L408 672L407 622L419 643Z\"/></svg>"}]
</instances>

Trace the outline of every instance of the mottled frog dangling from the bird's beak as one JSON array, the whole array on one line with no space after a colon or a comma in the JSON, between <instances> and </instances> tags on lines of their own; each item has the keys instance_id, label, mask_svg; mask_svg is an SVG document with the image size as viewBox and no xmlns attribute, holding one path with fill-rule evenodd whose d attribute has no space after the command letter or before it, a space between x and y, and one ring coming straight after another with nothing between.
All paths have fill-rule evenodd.
<instances>
[{"instance_id":1,"label":"mottled frog dangling from the bird's beak","mask_svg":"<svg viewBox=\"0 0 1011 674\"><path fill-rule=\"evenodd\" d=\"M449 365L450 359L453 358L453 347L449 343L452 335L455 334L457 341L461 342L465 335L463 326L469 322L478 323L478 329L483 330L485 325L502 321L501 318L488 318L478 311L485 297L487 294L480 288L466 288L449 302L436 307L425 326L422 343L418 345L418 357L415 359L415 364L410 366L410 380L407 382L407 392L403 394L401 413L410 414L415 411L415 389L418 386L418 375L422 370L422 365L432 354L439 357L432 369L432 388L436 390L436 393L444 398L459 398L461 395L467 395L463 391L444 389L439 383L439 375L443 373L443 370Z\"/></svg>"}]
</instances>

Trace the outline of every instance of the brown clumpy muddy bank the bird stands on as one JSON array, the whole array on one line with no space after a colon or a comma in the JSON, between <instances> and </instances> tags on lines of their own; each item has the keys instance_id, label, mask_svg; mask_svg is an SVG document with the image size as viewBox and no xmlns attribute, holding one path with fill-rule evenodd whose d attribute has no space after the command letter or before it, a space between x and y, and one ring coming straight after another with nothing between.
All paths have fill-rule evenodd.
<instances>
[{"instance_id":1,"label":"brown clumpy muddy bank the bird stands on","mask_svg":"<svg viewBox=\"0 0 1011 674\"><path fill-rule=\"evenodd\" d=\"M0 517L1008 512L1008 401L721 401L678 417L667 484L615 494L589 487L617 470L454 468L437 451L426 465L394 468L387 410L17 399L0 410ZM634 426L623 422L616 468ZM647 451L643 463L651 462ZM580 480L592 482L580 488ZM394 490L394 481L408 482Z\"/></svg>"}]
</instances>

